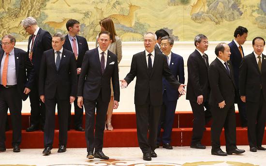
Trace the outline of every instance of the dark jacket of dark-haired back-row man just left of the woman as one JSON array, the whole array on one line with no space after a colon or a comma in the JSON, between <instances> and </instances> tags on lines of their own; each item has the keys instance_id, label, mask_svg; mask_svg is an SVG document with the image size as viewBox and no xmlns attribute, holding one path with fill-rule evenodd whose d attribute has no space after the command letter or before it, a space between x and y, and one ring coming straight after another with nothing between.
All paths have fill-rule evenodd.
<instances>
[{"instance_id":1,"label":"dark jacket of dark-haired back-row man just left of the woman","mask_svg":"<svg viewBox=\"0 0 266 166\"><path fill-rule=\"evenodd\" d=\"M87 40L84 37L76 35L76 38L77 38L77 45L78 45L78 57L76 60L76 66L77 68L80 68L85 52L89 50L89 46L88 46ZM63 47L73 52L72 46L68 38L68 34L66 35L66 40L65 40Z\"/></svg>"}]
</instances>

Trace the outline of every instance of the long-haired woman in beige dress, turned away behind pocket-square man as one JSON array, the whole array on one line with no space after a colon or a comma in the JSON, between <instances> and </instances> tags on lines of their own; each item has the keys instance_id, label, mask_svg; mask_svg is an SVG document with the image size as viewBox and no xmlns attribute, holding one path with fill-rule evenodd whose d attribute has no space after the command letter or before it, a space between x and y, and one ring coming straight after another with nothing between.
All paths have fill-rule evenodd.
<instances>
[{"instance_id":1,"label":"long-haired woman in beige dress, turned away behind pocket-square man","mask_svg":"<svg viewBox=\"0 0 266 166\"><path fill-rule=\"evenodd\" d=\"M108 46L108 50L112 53L116 54L118 57L118 64L122 59L122 42L121 39L117 36L114 22L111 18L103 18L100 21L101 31L109 31L111 33L111 40L112 43ZM96 47L98 46L98 36L96 37ZM111 124L112 119L112 113L113 113L113 105L114 105L114 91L112 86L112 80L111 80L111 99L109 102L108 110L107 110L107 119L106 119L106 125L105 130L107 126L107 130L113 130L113 126Z\"/></svg>"}]
</instances>

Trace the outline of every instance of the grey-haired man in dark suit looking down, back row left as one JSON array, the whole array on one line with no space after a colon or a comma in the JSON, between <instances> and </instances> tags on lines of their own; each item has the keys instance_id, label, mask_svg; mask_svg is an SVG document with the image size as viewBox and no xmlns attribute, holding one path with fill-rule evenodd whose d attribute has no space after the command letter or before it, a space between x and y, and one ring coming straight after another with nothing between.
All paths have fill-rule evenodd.
<instances>
[{"instance_id":1,"label":"grey-haired man in dark suit looking down, back row left","mask_svg":"<svg viewBox=\"0 0 266 166\"><path fill-rule=\"evenodd\" d=\"M22 20L21 25L30 34L28 44L28 55L35 70L34 85L30 91L30 127L27 132L32 132L44 128L45 106L39 98L38 82L41 60L44 51L52 48L52 37L49 32L38 27L37 21L33 17Z\"/></svg>"}]
</instances>

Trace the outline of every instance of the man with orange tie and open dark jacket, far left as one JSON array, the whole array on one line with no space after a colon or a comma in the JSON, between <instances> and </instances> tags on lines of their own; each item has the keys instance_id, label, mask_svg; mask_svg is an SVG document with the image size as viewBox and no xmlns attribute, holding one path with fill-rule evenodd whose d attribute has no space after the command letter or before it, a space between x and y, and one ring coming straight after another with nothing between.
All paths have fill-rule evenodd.
<instances>
[{"instance_id":1,"label":"man with orange tie and open dark jacket, far left","mask_svg":"<svg viewBox=\"0 0 266 166\"><path fill-rule=\"evenodd\" d=\"M9 108L12 126L14 152L19 152L21 143L22 101L28 98L34 80L34 69L27 52L15 48L15 37L5 35L0 49L0 151L5 149L7 109Z\"/></svg>"}]
</instances>

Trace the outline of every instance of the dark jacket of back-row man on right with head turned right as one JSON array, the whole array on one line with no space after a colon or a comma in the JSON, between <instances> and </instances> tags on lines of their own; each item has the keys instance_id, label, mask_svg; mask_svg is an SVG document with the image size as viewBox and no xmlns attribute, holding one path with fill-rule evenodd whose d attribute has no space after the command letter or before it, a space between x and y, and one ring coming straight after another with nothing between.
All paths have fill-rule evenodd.
<instances>
[{"instance_id":1,"label":"dark jacket of back-row man on right with head turned right","mask_svg":"<svg viewBox=\"0 0 266 166\"><path fill-rule=\"evenodd\" d=\"M232 62L232 65L233 65L233 69L234 69L234 78L235 78L235 81L236 81L236 95L238 97L236 97L236 103L240 100L240 96L239 96L239 87L238 87L238 79L239 79L239 66L240 66L240 62L242 60L242 57L241 57L241 53L239 51L239 48L236 46L236 43L234 42L234 40L228 44L229 47L230 47L230 52L231 52L231 55L230 55L230 61ZM242 52L243 52L243 56L244 56L244 51L243 51L243 47L241 46L242 48Z\"/></svg>"}]
</instances>

